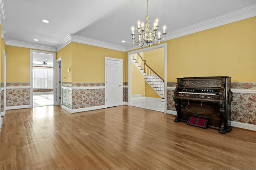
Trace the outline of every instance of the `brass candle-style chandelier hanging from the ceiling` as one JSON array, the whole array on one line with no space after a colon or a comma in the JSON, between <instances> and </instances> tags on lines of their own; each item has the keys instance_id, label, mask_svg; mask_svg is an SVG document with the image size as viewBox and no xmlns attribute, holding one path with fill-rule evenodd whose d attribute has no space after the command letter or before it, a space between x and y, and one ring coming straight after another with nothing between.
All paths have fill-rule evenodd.
<instances>
[{"instance_id":1,"label":"brass candle-style chandelier hanging from the ceiling","mask_svg":"<svg viewBox=\"0 0 256 170\"><path fill-rule=\"evenodd\" d=\"M167 34L165 33L166 26L163 27L163 38L161 38L161 32L158 31L158 19L156 18L156 21L154 21L154 27L150 26L150 20L148 20L150 17L148 16L148 0L147 0L147 16L145 25L144 22L140 24L140 21L138 21L138 40L136 41L134 38L134 27L132 26L132 43L134 45L140 45L142 47L144 43L151 46L151 43L154 45L159 45L160 42L164 41L164 36ZM158 31L158 33L157 33ZM158 38L156 38L156 34L158 34Z\"/></svg>"}]
</instances>

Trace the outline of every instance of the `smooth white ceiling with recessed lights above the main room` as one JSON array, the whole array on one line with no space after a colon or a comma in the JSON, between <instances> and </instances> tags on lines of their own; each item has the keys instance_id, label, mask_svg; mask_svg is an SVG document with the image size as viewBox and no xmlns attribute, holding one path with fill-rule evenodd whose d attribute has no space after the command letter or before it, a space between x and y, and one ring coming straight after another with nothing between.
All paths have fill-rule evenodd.
<instances>
[{"instance_id":1,"label":"smooth white ceiling with recessed lights above the main room","mask_svg":"<svg viewBox=\"0 0 256 170\"><path fill-rule=\"evenodd\" d=\"M146 0L0 2L3 4L1 35L5 33L6 42L54 48L70 34L124 48L132 46L131 27L136 27L137 21L144 21L146 16ZM166 25L166 32L171 35L191 25L236 14L244 8L253 6L252 9L255 9L255 5L256 0L148 0L148 16L151 23L158 18L159 25ZM43 23L42 20L50 23Z\"/></svg>"}]
</instances>

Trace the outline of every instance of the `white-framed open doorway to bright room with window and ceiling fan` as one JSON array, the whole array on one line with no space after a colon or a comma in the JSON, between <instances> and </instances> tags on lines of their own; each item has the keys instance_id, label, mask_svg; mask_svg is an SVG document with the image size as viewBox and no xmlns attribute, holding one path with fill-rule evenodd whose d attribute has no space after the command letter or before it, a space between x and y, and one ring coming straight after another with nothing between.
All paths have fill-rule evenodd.
<instances>
[{"instance_id":1,"label":"white-framed open doorway to bright room with window and ceiling fan","mask_svg":"<svg viewBox=\"0 0 256 170\"><path fill-rule=\"evenodd\" d=\"M55 53L30 50L30 107L56 105Z\"/></svg>"}]
</instances>

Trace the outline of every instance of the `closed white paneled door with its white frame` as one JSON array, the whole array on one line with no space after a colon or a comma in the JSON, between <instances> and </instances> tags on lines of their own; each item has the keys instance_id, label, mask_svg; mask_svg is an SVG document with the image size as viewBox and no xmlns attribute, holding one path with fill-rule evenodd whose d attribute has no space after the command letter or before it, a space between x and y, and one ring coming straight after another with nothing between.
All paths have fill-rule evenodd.
<instances>
[{"instance_id":1,"label":"closed white paneled door with its white frame","mask_svg":"<svg viewBox=\"0 0 256 170\"><path fill-rule=\"evenodd\" d=\"M123 101L123 60L105 58L105 107L121 106Z\"/></svg>"}]
</instances>

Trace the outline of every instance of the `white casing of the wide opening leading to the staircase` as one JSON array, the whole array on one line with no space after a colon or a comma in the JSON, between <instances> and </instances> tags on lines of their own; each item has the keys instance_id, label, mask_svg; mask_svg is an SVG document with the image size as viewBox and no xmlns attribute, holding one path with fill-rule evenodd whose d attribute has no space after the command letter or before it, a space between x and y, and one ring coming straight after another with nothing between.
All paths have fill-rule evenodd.
<instances>
[{"instance_id":1,"label":"white casing of the wide opening leading to the staircase","mask_svg":"<svg viewBox=\"0 0 256 170\"><path fill-rule=\"evenodd\" d=\"M164 108L161 109L164 113L167 113L167 99L166 99L166 96L167 96L167 44L166 43L163 43L163 44L160 44L158 46L153 46L153 47L148 47L148 48L144 48L144 49L140 49L140 50L136 50L136 51L132 51L132 52L129 52L128 53L128 106L134 106L134 105L137 105L138 104L134 104L134 102L132 101L132 55L133 54L137 54L137 53L144 53L144 52L148 52L148 51L151 51L151 50L154 50L154 49L160 49L160 48L164 48L164 101L162 103L164 104L161 104L161 101L160 101L160 105L163 105ZM139 101L138 101L139 102ZM145 102L147 102L146 100L144 101L140 101L140 105L144 105L145 107L149 106L153 106L154 103L152 104L145 104ZM144 103L142 103L144 102ZM151 102L151 101L148 101L148 102ZM142 106L142 107L144 107ZM150 109L153 109L153 110L157 110L157 111L160 111L159 108L150 108Z\"/></svg>"}]
</instances>

